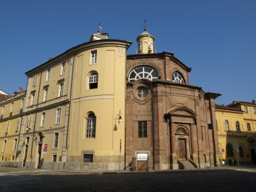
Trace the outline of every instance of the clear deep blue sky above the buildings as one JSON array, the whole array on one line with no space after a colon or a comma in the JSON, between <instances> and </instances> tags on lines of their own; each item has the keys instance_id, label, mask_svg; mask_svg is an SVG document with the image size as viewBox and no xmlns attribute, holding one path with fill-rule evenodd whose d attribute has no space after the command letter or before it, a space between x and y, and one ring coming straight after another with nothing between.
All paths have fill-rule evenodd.
<instances>
[{"instance_id":1,"label":"clear deep blue sky above the buildings","mask_svg":"<svg viewBox=\"0 0 256 192\"><path fill-rule=\"evenodd\" d=\"M222 94L218 104L256 99L256 1L13 1L0 3L0 89L26 88L26 71L87 42L102 24L135 53L143 21L158 52L192 68L189 83Z\"/></svg>"}]
</instances>

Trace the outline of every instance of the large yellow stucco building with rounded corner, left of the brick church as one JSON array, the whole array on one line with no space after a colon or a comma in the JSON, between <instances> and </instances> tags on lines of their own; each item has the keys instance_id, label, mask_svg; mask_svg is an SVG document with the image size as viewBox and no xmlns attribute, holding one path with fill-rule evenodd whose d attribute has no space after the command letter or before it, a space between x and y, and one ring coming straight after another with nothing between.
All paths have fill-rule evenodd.
<instances>
[{"instance_id":1,"label":"large yellow stucco building with rounded corner, left of the brick church","mask_svg":"<svg viewBox=\"0 0 256 192\"><path fill-rule=\"evenodd\" d=\"M27 71L26 92L0 103L0 166L123 168L130 44L98 32Z\"/></svg>"}]
</instances>

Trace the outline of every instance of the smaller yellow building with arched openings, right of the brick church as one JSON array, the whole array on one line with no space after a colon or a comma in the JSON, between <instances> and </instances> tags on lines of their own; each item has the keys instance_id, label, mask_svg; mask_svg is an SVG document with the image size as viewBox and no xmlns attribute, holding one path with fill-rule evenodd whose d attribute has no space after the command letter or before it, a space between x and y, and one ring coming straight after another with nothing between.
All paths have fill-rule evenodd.
<instances>
[{"instance_id":1,"label":"smaller yellow building with arched openings, right of the brick church","mask_svg":"<svg viewBox=\"0 0 256 192\"><path fill-rule=\"evenodd\" d=\"M234 101L227 106L216 104L216 119L222 159L226 164L234 161L239 161L240 164L256 164L255 101Z\"/></svg>"}]
</instances>

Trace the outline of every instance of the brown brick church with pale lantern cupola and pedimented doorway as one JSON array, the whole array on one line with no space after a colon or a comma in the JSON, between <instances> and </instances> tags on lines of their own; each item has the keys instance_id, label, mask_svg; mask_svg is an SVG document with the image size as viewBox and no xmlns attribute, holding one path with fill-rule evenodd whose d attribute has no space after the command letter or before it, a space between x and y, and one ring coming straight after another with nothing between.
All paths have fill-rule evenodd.
<instances>
[{"instance_id":1,"label":"brown brick church with pale lantern cupola and pedimented doorway","mask_svg":"<svg viewBox=\"0 0 256 192\"><path fill-rule=\"evenodd\" d=\"M190 67L173 53L155 53L144 28L138 54L127 55L125 156L136 170L220 164L215 98L189 84Z\"/></svg>"}]
</instances>

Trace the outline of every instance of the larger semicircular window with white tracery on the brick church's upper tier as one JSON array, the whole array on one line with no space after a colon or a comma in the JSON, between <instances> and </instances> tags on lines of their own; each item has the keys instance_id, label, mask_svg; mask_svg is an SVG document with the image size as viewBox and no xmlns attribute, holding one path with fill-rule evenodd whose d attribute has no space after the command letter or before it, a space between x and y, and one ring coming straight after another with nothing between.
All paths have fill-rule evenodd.
<instances>
[{"instance_id":1,"label":"larger semicircular window with white tracery on the brick church's upper tier","mask_svg":"<svg viewBox=\"0 0 256 192\"><path fill-rule=\"evenodd\" d=\"M159 79L158 71L154 67L139 66L131 70L128 76L128 81L134 82L139 79L148 79L151 82Z\"/></svg>"}]
</instances>

